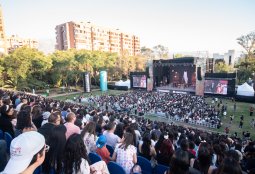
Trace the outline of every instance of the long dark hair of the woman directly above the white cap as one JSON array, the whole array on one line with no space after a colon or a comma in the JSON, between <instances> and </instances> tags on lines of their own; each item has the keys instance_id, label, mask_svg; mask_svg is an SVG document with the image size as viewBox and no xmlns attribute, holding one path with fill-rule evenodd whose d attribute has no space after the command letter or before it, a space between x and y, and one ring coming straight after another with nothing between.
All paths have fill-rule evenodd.
<instances>
[{"instance_id":1,"label":"long dark hair of the woman directly above the white cap","mask_svg":"<svg viewBox=\"0 0 255 174\"><path fill-rule=\"evenodd\" d=\"M24 128L32 127L30 113L26 110L22 110L17 115L16 129L23 130Z\"/></svg>"}]
</instances>

